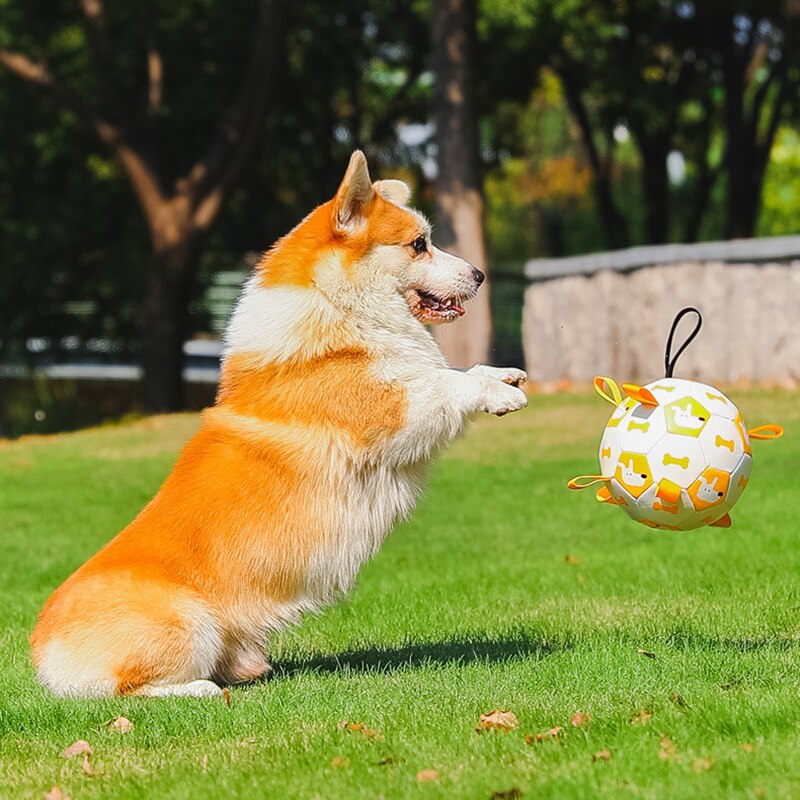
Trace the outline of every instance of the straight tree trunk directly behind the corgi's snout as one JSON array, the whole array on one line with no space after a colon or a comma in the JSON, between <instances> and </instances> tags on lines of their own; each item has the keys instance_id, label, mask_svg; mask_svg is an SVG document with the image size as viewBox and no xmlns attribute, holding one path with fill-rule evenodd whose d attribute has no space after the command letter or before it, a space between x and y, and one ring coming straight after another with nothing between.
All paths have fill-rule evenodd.
<instances>
[{"instance_id":1,"label":"straight tree trunk directly behind the corgi's snout","mask_svg":"<svg viewBox=\"0 0 800 800\"><path fill-rule=\"evenodd\" d=\"M434 0L436 73L437 245L488 273L475 106L475 0ZM448 362L468 367L489 360L492 315L484 284L463 320L436 329Z\"/></svg>"}]
</instances>

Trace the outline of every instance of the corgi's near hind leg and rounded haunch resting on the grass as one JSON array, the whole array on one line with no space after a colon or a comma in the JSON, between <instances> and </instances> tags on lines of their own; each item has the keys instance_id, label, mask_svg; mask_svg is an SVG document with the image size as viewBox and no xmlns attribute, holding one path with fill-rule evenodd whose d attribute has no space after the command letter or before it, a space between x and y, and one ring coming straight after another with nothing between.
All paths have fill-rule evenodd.
<instances>
[{"instance_id":1,"label":"corgi's near hind leg and rounded haunch resting on the grass","mask_svg":"<svg viewBox=\"0 0 800 800\"><path fill-rule=\"evenodd\" d=\"M209 680L222 652L214 609L166 581L80 576L45 606L32 644L40 680L58 695L222 691Z\"/></svg>"}]
</instances>

